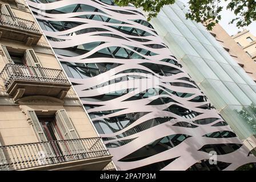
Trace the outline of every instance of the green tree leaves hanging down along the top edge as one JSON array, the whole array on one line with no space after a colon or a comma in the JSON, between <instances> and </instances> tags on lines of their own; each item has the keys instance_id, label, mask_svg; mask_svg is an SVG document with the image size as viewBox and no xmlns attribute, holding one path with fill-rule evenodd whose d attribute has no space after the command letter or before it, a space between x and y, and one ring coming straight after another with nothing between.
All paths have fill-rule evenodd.
<instances>
[{"instance_id":1,"label":"green tree leaves hanging down along the top edge","mask_svg":"<svg viewBox=\"0 0 256 182\"><path fill-rule=\"evenodd\" d=\"M249 26L256 20L256 1L255 0L222 0L228 1L225 7L235 14L235 18L230 23L237 22L237 27ZM132 3L137 8L149 13L147 20L158 15L159 11L165 5L172 5L175 0L114 0L119 6L127 6ZM196 22L206 22L207 29L211 30L216 23L221 20L222 6L219 6L221 0L189 0L189 11L186 18Z\"/></svg>"}]
</instances>

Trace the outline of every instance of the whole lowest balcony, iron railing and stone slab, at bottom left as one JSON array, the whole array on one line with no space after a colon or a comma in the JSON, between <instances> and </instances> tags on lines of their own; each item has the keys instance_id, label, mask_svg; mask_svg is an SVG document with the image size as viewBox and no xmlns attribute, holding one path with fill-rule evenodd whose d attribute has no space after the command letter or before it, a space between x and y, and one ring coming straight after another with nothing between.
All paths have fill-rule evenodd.
<instances>
[{"instance_id":1,"label":"whole lowest balcony, iron railing and stone slab, at bottom left","mask_svg":"<svg viewBox=\"0 0 256 182\"><path fill-rule=\"evenodd\" d=\"M102 170L111 162L101 138L0 146L0 171Z\"/></svg>"}]
</instances>

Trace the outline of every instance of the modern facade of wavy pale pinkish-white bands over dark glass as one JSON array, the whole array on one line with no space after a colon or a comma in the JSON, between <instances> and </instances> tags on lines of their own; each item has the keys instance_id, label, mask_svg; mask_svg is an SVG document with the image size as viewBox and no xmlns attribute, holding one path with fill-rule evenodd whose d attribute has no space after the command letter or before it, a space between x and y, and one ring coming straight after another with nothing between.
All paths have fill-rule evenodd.
<instances>
[{"instance_id":1,"label":"modern facade of wavy pale pinkish-white bands over dark glass","mask_svg":"<svg viewBox=\"0 0 256 182\"><path fill-rule=\"evenodd\" d=\"M139 10L110 0L27 3L117 169L256 162Z\"/></svg>"}]
</instances>

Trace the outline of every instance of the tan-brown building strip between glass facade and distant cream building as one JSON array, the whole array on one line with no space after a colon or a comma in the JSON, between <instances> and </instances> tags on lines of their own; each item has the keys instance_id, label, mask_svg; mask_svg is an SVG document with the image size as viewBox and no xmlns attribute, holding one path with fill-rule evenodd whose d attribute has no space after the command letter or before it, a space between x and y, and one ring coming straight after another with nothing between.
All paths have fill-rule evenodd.
<instances>
[{"instance_id":1,"label":"tan-brown building strip between glass facade and distant cream building","mask_svg":"<svg viewBox=\"0 0 256 182\"><path fill-rule=\"evenodd\" d=\"M211 35L229 52L230 56L245 70L245 72L256 81L256 61L254 61L250 54L246 53L235 40L227 34L220 24L216 24ZM256 53L256 48L255 48Z\"/></svg>"}]
</instances>

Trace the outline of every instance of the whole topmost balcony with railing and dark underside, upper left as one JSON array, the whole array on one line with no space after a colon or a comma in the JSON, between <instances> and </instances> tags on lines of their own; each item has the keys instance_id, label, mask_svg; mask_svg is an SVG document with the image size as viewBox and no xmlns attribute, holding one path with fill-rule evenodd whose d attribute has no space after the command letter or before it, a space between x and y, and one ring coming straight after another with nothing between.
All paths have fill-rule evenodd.
<instances>
[{"instance_id":1,"label":"whole topmost balcony with railing and dark underside, upper left","mask_svg":"<svg viewBox=\"0 0 256 182\"><path fill-rule=\"evenodd\" d=\"M37 44L41 36L35 22L0 13L0 38L18 40L31 46Z\"/></svg>"}]
</instances>

